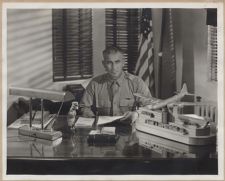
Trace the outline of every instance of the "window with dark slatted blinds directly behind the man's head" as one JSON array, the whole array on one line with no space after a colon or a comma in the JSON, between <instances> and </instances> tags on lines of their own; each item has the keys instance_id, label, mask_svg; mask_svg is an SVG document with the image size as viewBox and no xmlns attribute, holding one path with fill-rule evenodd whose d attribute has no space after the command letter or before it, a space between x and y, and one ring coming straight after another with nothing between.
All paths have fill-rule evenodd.
<instances>
[{"instance_id":1,"label":"window with dark slatted blinds directly behind the man's head","mask_svg":"<svg viewBox=\"0 0 225 181\"><path fill-rule=\"evenodd\" d=\"M125 52L124 70L134 73L138 59L140 12L138 9L106 9L106 46Z\"/></svg>"}]
</instances>

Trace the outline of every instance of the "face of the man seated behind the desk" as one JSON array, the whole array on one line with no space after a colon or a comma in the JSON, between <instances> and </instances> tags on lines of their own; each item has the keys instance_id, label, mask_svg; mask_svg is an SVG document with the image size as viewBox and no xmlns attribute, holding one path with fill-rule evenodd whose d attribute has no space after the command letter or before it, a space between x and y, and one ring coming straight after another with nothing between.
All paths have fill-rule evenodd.
<instances>
[{"instance_id":1,"label":"face of the man seated behind the desk","mask_svg":"<svg viewBox=\"0 0 225 181\"><path fill-rule=\"evenodd\" d=\"M124 59L120 52L107 55L102 63L106 71L113 79L119 78L122 74Z\"/></svg>"}]
</instances>

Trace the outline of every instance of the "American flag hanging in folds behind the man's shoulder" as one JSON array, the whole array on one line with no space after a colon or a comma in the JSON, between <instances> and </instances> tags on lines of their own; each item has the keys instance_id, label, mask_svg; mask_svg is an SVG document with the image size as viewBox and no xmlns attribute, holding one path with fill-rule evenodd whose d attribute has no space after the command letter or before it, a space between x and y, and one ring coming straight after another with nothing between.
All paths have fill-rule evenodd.
<instances>
[{"instance_id":1,"label":"American flag hanging in folds behind the man's shoulder","mask_svg":"<svg viewBox=\"0 0 225 181\"><path fill-rule=\"evenodd\" d=\"M149 86L151 94L155 95L154 54L151 9L142 9L141 34L138 47L139 57L135 73Z\"/></svg>"}]
</instances>

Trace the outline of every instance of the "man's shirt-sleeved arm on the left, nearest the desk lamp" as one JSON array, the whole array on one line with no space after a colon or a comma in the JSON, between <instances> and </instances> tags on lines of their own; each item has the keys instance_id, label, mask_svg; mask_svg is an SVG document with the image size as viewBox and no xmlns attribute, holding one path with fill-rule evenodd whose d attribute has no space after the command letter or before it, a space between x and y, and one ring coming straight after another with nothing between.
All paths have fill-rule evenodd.
<instances>
[{"instance_id":1,"label":"man's shirt-sleeved arm on the left, nearest the desk lamp","mask_svg":"<svg viewBox=\"0 0 225 181\"><path fill-rule=\"evenodd\" d=\"M81 99L81 102L80 102L82 116L84 116L84 117L94 117L95 116L95 114L91 110L93 103L94 103L94 84L91 81L88 84L88 86L84 92L84 95Z\"/></svg>"}]
</instances>

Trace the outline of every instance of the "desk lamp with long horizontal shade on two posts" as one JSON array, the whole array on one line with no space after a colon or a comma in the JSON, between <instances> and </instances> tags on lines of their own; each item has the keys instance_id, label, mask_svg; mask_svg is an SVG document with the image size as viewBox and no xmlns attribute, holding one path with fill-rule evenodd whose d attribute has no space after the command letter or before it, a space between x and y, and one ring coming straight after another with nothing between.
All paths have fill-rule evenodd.
<instances>
[{"instance_id":1,"label":"desk lamp with long horizontal shade on two posts","mask_svg":"<svg viewBox=\"0 0 225 181\"><path fill-rule=\"evenodd\" d=\"M29 103L29 126L23 126L19 128L19 134L31 136L39 139L46 140L56 140L62 137L62 133L60 131L53 130L45 130L44 129L44 116L43 116L43 100L48 99L52 101L71 101L74 100L75 97L71 92L61 92L61 91L53 91L53 90L45 90L45 89L33 89L33 88L21 88L21 87L10 87L9 95L17 95L17 96L25 96L30 98ZM32 98L40 98L41 99L41 129L32 127Z\"/></svg>"}]
</instances>

